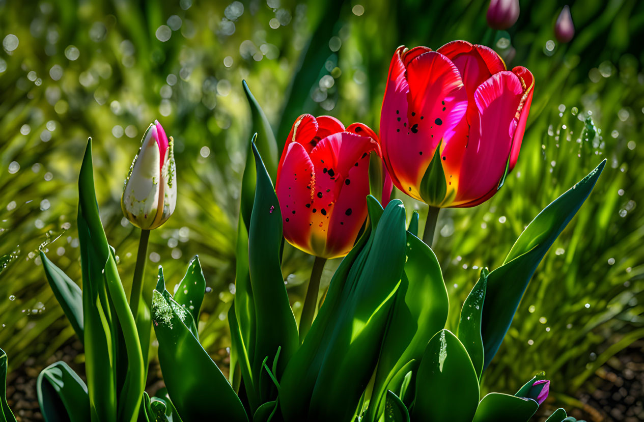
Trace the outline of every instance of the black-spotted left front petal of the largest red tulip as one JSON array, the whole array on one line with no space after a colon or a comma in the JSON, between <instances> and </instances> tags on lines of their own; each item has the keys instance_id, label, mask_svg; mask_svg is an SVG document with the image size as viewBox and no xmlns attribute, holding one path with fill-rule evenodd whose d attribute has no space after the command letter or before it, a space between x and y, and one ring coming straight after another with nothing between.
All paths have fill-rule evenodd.
<instances>
[{"instance_id":1,"label":"black-spotted left front petal of the largest red tulip","mask_svg":"<svg viewBox=\"0 0 644 422\"><path fill-rule=\"evenodd\" d=\"M449 142L455 125L462 119L467 97L459 70L440 53L419 55L410 62L406 73L409 95L405 106L409 101L410 108L394 110L400 111L398 115L386 110L390 114L384 116L393 120L397 139L388 156L401 185L399 189L421 199L418 190L421 179L440 140Z\"/></svg>"}]
</instances>

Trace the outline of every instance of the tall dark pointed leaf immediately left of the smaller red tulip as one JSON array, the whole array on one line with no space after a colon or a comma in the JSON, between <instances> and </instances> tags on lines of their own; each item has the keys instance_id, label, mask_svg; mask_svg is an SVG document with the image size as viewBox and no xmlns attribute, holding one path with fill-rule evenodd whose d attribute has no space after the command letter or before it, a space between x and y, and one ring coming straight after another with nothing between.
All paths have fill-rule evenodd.
<instances>
[{"instance_id":1,"label":"tall dark pointed leaf immediately left of the smaller red tulip","mask_svg":"<svg viewBox=\"0 0 644 422\"><path fill-rule=\"evenodd\" d=\"M275 374L279 379L291 356L298 350L298 325L281 273L282 217L278 198L255 144L252 144L252 151L257 182L249 231L249 271L256 325L251 368L253 374L260 374L264 358L268 356L269 361L273 361L278 347L281 347L281 359ZM261 382L257 376L255 378L253 387L260 403L277 397L270 378L263 377Z\"/></svg>"}]
</instances>

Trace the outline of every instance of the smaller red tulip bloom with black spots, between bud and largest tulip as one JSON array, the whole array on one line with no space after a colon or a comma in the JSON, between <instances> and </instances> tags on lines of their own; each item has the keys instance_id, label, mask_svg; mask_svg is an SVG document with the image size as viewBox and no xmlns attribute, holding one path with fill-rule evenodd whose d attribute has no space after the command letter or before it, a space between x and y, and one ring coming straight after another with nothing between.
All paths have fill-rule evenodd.
<instances>
[{"instance_id":1,"label":"smaller red tulip bloom with black spots, between bud and largest tulip","mask_svg":"<svg viewBox=\"0 0 644 422\"><path fill-rule=\"evenodd\" d=\"M275 189L290 244L321 258L350 251L367 216L370 151L380 154L374 131L364 124L345 129L334 117L298 117Z\"/></svg>"}]
</instances>

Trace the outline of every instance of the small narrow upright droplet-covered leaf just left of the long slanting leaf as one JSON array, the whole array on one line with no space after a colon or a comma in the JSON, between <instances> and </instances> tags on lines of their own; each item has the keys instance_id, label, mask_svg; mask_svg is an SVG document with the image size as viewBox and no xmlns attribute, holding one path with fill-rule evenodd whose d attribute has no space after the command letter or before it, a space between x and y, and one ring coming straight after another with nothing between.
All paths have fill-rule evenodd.
<instances>
[{"instance_id":1,"label":"small narrow upright droplet-covered leaf just left of the long slanting leaf","mask_svg":"<svg viewBox=\"0 0 644 422\"><path fill-rule=\"evenodd\" d=\"M481 270L480 278L469 292L468 298L460 310L459 340L462 341L465 349L468 350L469 358L472 360L474 370L480 379L483 372L483 338L481 336L481 317L483 304L488 286L489 271L487 268Z\"/></svg>"}]
</instances>

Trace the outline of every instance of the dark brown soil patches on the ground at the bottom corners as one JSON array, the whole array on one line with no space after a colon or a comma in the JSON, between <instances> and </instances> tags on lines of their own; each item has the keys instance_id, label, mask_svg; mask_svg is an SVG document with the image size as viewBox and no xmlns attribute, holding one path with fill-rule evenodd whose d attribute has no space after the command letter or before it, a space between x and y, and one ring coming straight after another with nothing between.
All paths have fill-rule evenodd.
<instances>
[{"instance_id":1,"label":"dark brown soil patches on the ground at the bottom corners","mask_svg":"<svg viewBox=\"0 0 644 422\"><path fill-rule=\"evenodd\" d=\"M83 380L82 344L70 341L46 361L65 361ZM227 368L227 353L220 350L214 360ZM45 366L46 366L45 365ZM36 397L36 378L44 366L35 365L30 358L7 376L7 399L19 422L42 421L43 416ZM227 372L227 371L225 371ZM225 373L226 375L226 373ZM147 377L147 392L154 393L164 387L158 363L153 363ZM639 422L644 421L644 340L637 341L611 358L603 365L576 394L583 408L567 406L569 416L585 419L588 422ZM535 419L543 422L559 406L546 401L540 408L540 416Z\"/></svg>"}]
</instances>

